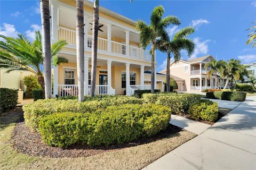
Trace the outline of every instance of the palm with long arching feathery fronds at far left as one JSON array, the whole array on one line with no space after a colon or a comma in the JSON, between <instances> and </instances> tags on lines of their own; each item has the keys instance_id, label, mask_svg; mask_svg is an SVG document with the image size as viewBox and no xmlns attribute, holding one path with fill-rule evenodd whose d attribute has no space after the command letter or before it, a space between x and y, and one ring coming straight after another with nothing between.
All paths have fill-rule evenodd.
<instances>
[{"instance_id":1,"label":"palm with long arching feathery fronds at far left","mask_svg":"<svg viewBox=\"0 0 256 170\"><path fill-rule=\"evenodd\" d=\"M35 32L35 40L31 43L24 35L18 34L18 38L0 35L0 68L7 72L19 70L29 71L37 76L38 82L44 89L44 76L42 71L43 49L42 37L39 31ZM59 40L51 46L51 59L53 65L67 63L64 57L57 56L60 49L67 45L65 40Z\"/></svg>"}]
</instances>

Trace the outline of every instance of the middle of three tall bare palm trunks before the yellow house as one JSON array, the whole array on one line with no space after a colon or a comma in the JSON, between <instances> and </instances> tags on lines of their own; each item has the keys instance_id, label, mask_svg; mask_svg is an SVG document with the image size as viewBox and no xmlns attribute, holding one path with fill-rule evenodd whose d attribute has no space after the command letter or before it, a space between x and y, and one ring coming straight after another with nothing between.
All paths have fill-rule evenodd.
<instances>
[{"instance_id":1,"label":"middle of three tall bare palm trunks before the yellow house","mask_svg":"<svg viewBox=\"0 0 256 170\"><path fill-rule=\"evenodd\" d=\"M76 0L76 57L78 101L84 101L84 1Z\"/></svg>"}]
</instances>

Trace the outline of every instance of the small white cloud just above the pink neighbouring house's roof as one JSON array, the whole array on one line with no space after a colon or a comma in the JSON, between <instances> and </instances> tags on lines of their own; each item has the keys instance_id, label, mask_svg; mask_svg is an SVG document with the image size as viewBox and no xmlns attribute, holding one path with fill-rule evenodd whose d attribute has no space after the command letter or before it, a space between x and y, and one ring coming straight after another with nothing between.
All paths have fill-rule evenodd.
<instances>
[{"instance_id":1,"label":"small white cloud just above the pink neighbouring house's roof","mask_svg":"<svg viewBox=\"0 0 256 170\"><path fill-rule=\"evenodd\" d=\"M208 42L211 40L201 41L199 37L193 39L195 43L194 53L191 55L191 58L196 58L198 54L207 54L208 53Z\"/></svg>"}]
</instances>

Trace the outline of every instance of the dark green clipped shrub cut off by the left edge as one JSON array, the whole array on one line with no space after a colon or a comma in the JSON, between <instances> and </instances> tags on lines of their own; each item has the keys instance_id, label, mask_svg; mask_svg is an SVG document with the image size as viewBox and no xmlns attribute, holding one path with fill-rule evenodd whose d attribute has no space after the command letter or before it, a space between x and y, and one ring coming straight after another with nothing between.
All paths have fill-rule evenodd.
<instances>
[{"instance_id":1,"label":"dark green clipped shrub cut off by the left edge","mask_svg":"<svg viewBox=\"0 0 256 170\"><path fill-rule=\"evenodd\" d=\"M0 115L14 108L18 103L18 91L0 88Z\"/></svg>"}]
</instances>

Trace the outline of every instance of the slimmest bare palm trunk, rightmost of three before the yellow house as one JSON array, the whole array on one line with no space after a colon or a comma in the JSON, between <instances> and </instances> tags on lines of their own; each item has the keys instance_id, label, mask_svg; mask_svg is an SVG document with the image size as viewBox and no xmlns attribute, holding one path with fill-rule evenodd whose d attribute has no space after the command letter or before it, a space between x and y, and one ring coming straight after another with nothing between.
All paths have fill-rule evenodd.
<instances>
[{"instance_id":1,"label":"slimmest bare palm trunk, rightmost of three before the yellow house","mask_svg":"<svg viewBox=\"0 0 256 170\"><path fill-rule=\"evenodd\" d=\"M91 78L91 97L95 95L96 74L97 74L97 44L99 29L99 1L95 0L93 5L92 21L92 78Z\"/></svg>"}]
</instances>

